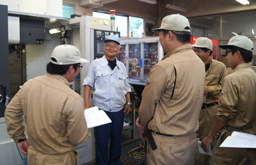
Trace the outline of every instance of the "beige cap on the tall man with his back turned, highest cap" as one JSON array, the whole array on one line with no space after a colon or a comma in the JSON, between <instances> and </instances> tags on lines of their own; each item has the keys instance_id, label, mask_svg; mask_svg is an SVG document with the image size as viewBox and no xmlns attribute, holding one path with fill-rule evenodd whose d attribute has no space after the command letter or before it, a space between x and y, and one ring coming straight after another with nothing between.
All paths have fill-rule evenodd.
<instances>
[{"instance_id":1,"label":"beige cap on the tall man with his back turned, highest cap","mask_svg":"<svg viewBox=\"0 0 256 165\"><path fill-rule=\"evenodd\" d=\"M172 14L163 18L160 28L152 29L152 31L159 30L190 32L190 25L188 18L180 14Z\"/></svg>"}]
</instances>

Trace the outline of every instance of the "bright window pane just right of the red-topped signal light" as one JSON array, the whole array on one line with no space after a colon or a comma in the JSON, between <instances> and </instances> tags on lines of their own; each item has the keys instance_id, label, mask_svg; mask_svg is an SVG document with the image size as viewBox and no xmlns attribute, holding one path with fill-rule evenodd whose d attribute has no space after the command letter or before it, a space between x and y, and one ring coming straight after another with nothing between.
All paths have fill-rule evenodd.
<instances>
[{"instance_id":1,"label":"bright window pane just right of the red-topped signal light","mask_svg":"<svg viewBox=\"0 0 256 165\"><path fill-rule=\"evenodd\" d=\"M134 38L143 37L143 18L129 17L130 33L133 32ZM129 34L131 36L131 34Z\"/></svg>"}]
</instances>

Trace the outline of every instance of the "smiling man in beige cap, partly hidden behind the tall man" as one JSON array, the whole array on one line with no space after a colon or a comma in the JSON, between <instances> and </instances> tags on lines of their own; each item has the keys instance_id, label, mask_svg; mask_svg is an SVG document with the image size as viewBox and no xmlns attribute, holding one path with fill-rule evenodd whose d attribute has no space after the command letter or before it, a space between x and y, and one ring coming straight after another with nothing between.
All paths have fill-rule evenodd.
<instances>
[{"instance_id":1,"label":"smiling man in beige cap, partly hidden behind the tall man","mask_svg":"<svg viewBox=\"0 0 256 165\"><path fill-rule=\"evenodd\" d=\"M215 101L220 96L221 84L223 78L228 75L226 66L219 61L211 58L212 54L212 41L209 38L200 37L196 39L194 52L205 64L205 86L204 96L206 101L202 106L199 115L199 129L198 136L202 141L211 131L218 112L218 103ZM214 141L211 143L211 150L213 148ZM206 154L200 154L199 164L209 164L211 156Z\"/></svg>"}]
</instances>

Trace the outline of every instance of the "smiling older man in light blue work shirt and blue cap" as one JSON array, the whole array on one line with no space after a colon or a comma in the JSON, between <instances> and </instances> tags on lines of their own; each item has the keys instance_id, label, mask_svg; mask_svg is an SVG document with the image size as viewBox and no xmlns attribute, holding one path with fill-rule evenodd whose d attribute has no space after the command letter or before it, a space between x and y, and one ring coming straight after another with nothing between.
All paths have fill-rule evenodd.
<instances>
[{"instance_id":1,"label":"smiling older man in light blue work shirt and blue cap","mask_svg":"<svg viewBox=\"0 0 256 165\"><path fill-rule=\"evenodd\" d=\"M124 64L116 59L120 38L110 35L104 43L105 55L90 64L84 78L84 104L85 108L90 108L90 90L95 89L94 106L104 110L112 120L110 124L94 128L96 164L121 164L122 129L124 115L131 109L131 87Z\"/></svg>"}]
</instances>

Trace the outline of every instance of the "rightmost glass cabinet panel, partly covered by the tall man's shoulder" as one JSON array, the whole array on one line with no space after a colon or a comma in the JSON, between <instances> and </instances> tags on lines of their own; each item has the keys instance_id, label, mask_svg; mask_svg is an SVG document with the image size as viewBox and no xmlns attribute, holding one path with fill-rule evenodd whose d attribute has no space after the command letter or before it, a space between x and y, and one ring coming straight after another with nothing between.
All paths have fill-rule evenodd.
<instances>
[{"instance_id":1,"label":"rightmost glass cabinet panel, partly covered by the tall man's shoulder","mask_svg":"<svg viewBox=\"0 0 256 165\"><path fill-rule=\"evenodd\" d=\"M157 63L158 43L144 43L144 80L147 80L148 73Z\"/></svg>"}]
</instances>

